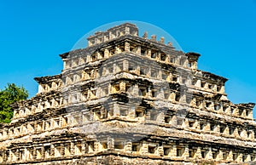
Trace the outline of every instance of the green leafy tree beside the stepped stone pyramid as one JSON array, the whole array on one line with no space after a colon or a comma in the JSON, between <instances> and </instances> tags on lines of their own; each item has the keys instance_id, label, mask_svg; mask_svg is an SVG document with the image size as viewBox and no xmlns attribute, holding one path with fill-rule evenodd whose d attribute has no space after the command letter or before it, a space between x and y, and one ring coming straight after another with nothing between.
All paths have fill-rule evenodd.
<instances>
[{"instance_id":1,"label":"green leafy tree beside the stepped stone pyramid","mask_svg":"<svg viewBox=\"0 0 256 165\"><path fill-rule=\"evenodd\" d=\"M27 97L28 92L25 88L8 83L7 87L0 91L0 122L11 122L14 111L10 105L16 101L26 100Z\"/></svg>"}]
</instances>

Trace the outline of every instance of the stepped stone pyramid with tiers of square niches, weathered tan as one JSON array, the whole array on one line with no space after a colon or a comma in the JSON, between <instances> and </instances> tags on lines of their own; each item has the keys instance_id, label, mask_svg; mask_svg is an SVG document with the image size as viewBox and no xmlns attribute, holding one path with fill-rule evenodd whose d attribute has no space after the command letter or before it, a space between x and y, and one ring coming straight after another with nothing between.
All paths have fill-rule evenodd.
<instances>
[{"instance_id":1,"label":"stepped stone pyramid with tiers of square niches, weathered tan","mask_svg":"<svg viewBox=\"0 0 256 165\"><path fill-rule=\"evenodd\" d=\"M197 69L200 54L125 23L61 54L60 75L12 105L0 164L214 164L256 161L253 103Z\"/></svg>"}]
</instances>

